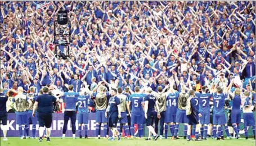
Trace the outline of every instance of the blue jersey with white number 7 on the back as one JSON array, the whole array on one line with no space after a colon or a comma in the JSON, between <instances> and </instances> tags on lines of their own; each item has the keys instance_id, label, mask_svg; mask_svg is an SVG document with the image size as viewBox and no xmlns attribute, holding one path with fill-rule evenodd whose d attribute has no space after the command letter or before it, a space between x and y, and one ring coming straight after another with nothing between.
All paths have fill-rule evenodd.
<instances>
[{"instance_id":1,"label":"blue jersey with white number 7 on the back","mask_svg":"<svg viewBox=\"0 0 256 146\"><path fill-rule=\"evenodd\" d=\"M224 111L225 98L226 98L226 95L223 93L213 94L213 113L220 114L225 112Z\"/></svg>"}]
</instances>

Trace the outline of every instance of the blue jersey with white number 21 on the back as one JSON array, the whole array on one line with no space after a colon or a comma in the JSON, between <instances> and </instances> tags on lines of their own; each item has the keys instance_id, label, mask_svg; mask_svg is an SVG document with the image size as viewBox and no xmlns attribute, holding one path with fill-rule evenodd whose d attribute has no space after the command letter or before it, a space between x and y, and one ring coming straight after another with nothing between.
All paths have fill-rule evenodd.
<instances>
[{"instance_id":1,"label":"blue jersey with white number 21 on the back","mask_svg":"<svg viewBox=\"0 0 256 146\"><path fill-rule=\"evenodd\" d=\"M88 113L88 106L90 102L90 95L80 95L78 97L78 113Z\"/></svg>"}]
</instances>

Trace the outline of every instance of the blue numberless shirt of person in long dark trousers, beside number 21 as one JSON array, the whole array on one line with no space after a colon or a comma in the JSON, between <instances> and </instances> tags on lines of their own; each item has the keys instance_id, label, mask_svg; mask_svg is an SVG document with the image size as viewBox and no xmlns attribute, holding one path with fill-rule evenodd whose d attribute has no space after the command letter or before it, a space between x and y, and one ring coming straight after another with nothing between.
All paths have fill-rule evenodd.
<instances>
[{"instance_id":1,"label":"blue numberless shirt of person in long dark trousers, beside number 21","mask_svg":"<svg viewBox=\"0 0 256 146\"><path fill-rule=\"evenodd\" d=\"M75 92L65 92L64 93L64 102L66 103L66 111L76 111L75 104L78 101L79 93Z\"/></svg>"}]
</instances>

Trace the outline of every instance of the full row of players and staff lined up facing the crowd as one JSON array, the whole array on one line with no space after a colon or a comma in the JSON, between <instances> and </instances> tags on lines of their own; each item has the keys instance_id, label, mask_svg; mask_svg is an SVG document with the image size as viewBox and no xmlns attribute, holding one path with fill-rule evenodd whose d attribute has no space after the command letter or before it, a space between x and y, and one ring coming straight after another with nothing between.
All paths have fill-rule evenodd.
<instances>
[{"instance_id":1,"label":"full row of players and staff lined up facing the crowd","mask_svg":"<svg viewBox=\"0 0 256 146\"><path fill-rule=\"evenodd\" d=\"M178 139L179 124L183 123L184 138L188 141L192 140L191 135L195 135L195 140L206 140L209 124L213 125L213 138L222 140L223 126L227 138L231 138L224 112L228 108L225 101L229 98L232 98L233 102L231 122L236 133L236 139L240 137L241 108L244 112L245 137L248 139L248 127L252 126L255 139L253 115L255 93L249 92L249 90L242 92L241 88L235 88L235 91L231 92L234 80L227 87L218 86L217 84L211 88L206 84L200 92L196 92L194 88L187 88L183 83L180 83L181 92L178 92L173 77L170 77L168 82L169 84L164 89L159 86L157 92L147 86L141 89L136 86L134 88L135 92L129 87L124 88L124 90L122 88L111 88L110 92L107 92L107 88L100 82L96 86L95 92L89 90L86 86L77 93L73 91L73 85L69 85L68 92L56 91L51 89L51 86L46 86L38 94L34 94L33 87L30 88L28 94L23 94L22 87L19 87L17 91L12 89L8 94L16 94L12 99L12 107L16 111L16 124L19 125L20 139L29 135L30 124L33 124L32 131L33 138L35 138L35 124L38 123L39 142L42 142L44 127L46 127L47 141L50 142L53 106L58 105L59 102L64 102L66 106L62 138L65 138L69 118L71 119L73 138L75 138L75 121L77 119L79 137L82 138L82 126L84 126L84 136L88 138L88 106L95 104L95 136L98 139L101 136L101 126L105 138L109 138L109 129L111 130L112 136L109 140L115 140L115 137L120 140L123 130L125 138L135 138L134 124L138 125L137 135L139 139L142 139L144 124L149 129L149 137L146 140L150 140L151 136L154 136L154 140L159 137L163 138L163 136L167 139L168 126L172 139ZM250 83L249 88L251 88ZM3 140L7 140L6 102L8 97L3 94L2 89L0 97ZM254 100L252 100L253 97ZM213 106L212 116L210 116L211 106ZM158 134L159 122L160 134ZM192 130L192 126L195 130ZM201 136L199 136L199 133Z\"/></svg>"}]
</instances>

